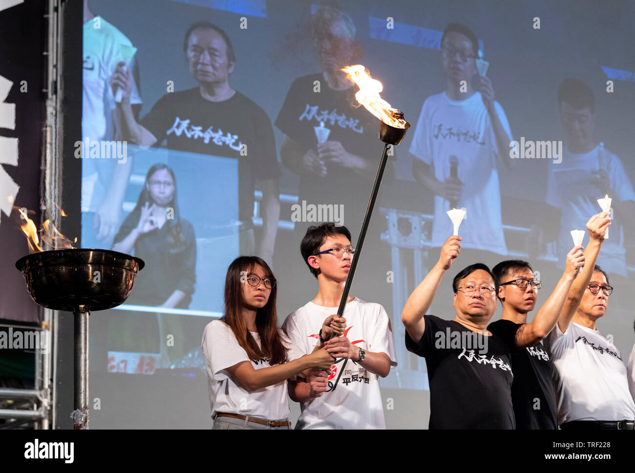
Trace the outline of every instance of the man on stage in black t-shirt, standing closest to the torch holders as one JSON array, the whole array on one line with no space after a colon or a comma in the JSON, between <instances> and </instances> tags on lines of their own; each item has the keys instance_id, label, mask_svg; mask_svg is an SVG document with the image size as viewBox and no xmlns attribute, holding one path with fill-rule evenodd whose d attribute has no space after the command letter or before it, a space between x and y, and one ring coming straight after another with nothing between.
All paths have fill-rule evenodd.
<instances>
[{"instance_id":1,"label":"man on stage in black t-shirt, standing closest to the torch holders","mask_svg":"<svg viewBox=\"0 0 635 473\"><path fill-rule=\"evenodd\" d=\"M511 347L486 330L498 290L490 269L475 263L455 276L453 320L424 315L461 250L461 240L446 240L439 261L408 297L401 312L406 347L425 357L430 429L514 429Z\"/></svg>"}]
</instances>

